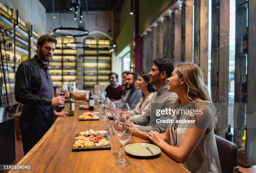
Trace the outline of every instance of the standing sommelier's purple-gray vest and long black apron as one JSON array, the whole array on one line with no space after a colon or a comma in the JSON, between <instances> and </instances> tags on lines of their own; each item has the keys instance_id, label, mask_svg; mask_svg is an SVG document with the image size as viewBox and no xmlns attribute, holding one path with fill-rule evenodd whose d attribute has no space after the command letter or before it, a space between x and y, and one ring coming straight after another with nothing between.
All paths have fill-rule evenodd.
<instances>
[{"instance_id":1,"label":"standing sommelier's purple-gray vest and long black apron","mask_svg":"<svg viewBox=\"0 0 256 173\"><path fill-rule=\"evenodd\" d=\"M36 95L40 98L52 99L54 92L51 76L47 70L45 72L44 68L39 67L38 64L37 67L41 76L41 87ZM53 106L37 105L24 108L19 123L25 155L44 136L55 119Z\"/></svg>"}]
</instances>

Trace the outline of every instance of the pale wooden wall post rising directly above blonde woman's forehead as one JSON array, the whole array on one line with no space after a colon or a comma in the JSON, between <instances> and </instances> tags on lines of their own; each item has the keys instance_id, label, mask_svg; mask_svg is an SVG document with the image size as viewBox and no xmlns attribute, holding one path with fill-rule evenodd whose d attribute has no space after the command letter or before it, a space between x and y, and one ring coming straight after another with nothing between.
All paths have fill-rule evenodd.
<instances>
[{"instance_id":1,"label":"pale wooden wall post rising directly above blonde woman's forehead","mask_svg":"<svg viewBox=\"0 0 256 173\"><path fill-rule=\"evenodd\" d=\"M185 61L193 62L193 0L185 1Z\"/></svg>"}]
</instances>

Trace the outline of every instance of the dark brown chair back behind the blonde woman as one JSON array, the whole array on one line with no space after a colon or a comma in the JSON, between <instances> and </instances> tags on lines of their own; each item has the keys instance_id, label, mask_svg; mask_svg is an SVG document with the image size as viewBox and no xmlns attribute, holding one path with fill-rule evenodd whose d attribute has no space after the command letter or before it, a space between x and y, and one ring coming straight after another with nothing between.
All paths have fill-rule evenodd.
<instances>
[{"instance_id":1,"label":"dark brown chair back behind the blonde woman","mask_svg":"<svg viewBox=\"0 0 256 173\"><path fill-rule=\"evenodd\" d=\"M237 164L238 149L236 144L218 135L215 135L215 140L222 173L239 173Z\"/></svg>"}]
</instances>

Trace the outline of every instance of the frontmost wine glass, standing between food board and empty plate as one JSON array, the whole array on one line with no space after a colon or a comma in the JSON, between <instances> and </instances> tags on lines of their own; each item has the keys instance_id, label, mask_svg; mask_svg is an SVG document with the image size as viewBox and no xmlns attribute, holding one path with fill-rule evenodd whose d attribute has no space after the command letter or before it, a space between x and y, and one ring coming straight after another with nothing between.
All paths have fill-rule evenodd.
<instances>
[{"instance_id":1,"label":"frontmost wine glass, standing between food board and empty plate","mask_svg":"<svg viewBox=\"0 0 256 173\"><path fill-rule=\"evenodd\" d=\"M120 116L115 120L113 126L115 127L116 136L122 145L122 153L123 153L123 157L118 159L116 161L116 164L118 166L130 165L131 162L124 158L124 155L125 155L124 145L125 143L128 142L128 140L130 140L132 135L131 123L128 120L126 120L125 116Z\"/></svg>"}]
</instances>

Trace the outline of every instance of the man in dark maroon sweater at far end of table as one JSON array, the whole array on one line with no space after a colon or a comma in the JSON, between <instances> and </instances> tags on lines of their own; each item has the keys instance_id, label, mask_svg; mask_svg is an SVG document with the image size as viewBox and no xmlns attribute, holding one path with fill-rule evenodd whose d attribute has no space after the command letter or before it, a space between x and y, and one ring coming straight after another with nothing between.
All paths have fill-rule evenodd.
<instances>
[{"instance_id":1,"label":"man in dark maroon sweater at far end of table","mask_svg":"<svg viewBox=\"0 0 256 173\"><path fill-rule=\"evenodd\" d=\"M105 89L107 97L112 100L120 100L123 96L124 90L121 85L118 84L118 74L109 73L108 74L110 85Z\"/></svg>"}]
</instances>

